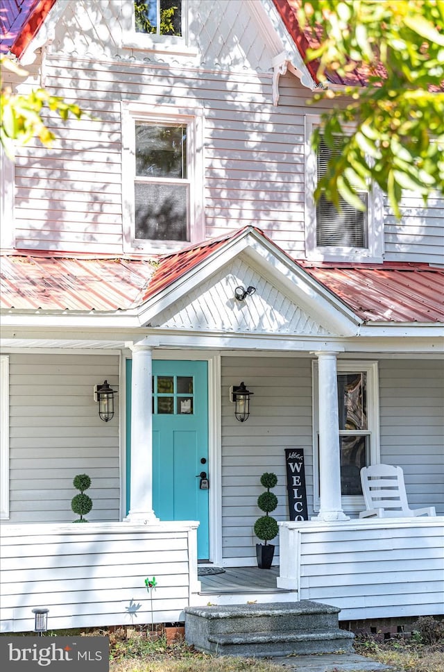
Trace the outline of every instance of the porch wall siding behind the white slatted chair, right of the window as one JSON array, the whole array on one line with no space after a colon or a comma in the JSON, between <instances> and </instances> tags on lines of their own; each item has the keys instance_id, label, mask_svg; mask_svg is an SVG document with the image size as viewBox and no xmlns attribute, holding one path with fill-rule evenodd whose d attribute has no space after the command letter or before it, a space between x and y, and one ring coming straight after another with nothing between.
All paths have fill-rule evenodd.
<instances>
[{"instance_id":1,"label":"porch wall siding behind the white slatted chair, right of the window","mask_svg":"<svg viewBox=\"0 0 444 672\"><path fill-rule=\"evenodd\" d=\"M412 508L444 514L444 362L379 362L381 462L402 467Z\"/></svg>"}]
</instances>

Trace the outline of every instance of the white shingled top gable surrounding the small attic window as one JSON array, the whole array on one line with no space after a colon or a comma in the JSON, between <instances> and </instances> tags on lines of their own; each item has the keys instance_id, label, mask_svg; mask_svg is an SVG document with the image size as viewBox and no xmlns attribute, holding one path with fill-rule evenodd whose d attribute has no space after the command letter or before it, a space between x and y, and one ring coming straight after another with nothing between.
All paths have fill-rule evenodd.
<instances>
[{"instance_id":1,"label":"white shingled top gable surrounding the small attic window","mask_svg":"<svg viewBox=\"0 0 444 672\"><path fill-rule=\"evenodd\" d=\"M256 0L254 0L256 2ZM269 71L275 51L265 35L257 39L260 26L249 2L182 0L187 15L188 49L162 44L143 47L142 33L133 33L133 0L76 0L67 3L55 27L49 53L94 56L98 59L200 66L211 70L258 69ZM80 30L79 30L80 26Z\"/></svg>"}]
</instances>

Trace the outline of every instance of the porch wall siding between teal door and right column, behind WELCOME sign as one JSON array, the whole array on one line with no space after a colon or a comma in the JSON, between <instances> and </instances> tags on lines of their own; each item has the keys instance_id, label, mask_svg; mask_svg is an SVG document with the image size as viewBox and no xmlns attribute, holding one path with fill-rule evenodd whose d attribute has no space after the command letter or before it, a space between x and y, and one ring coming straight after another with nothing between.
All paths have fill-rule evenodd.
<instances>
[{"instance_id":1,"label":"porch wall siding between teal door and right column, behind WELCOME sign","mask_svg":"<svg viewBox=\"0 0 444 672\"><path fill-rule=\"evenodd\" d=\"M263 513L257 497L264 492L264 471L278 476L273 492L278 507L271 514L288 520L284 448L304 448L309 513L313 507L311 440L311 364L309 359L224 357L222 360L222 546L225 565L256 564L253 532ZM240 423L228 401L230 385L241 380L254 396L250 418ZM278 537L275 558L279 555Z\"/></svg>"}]
</instances>

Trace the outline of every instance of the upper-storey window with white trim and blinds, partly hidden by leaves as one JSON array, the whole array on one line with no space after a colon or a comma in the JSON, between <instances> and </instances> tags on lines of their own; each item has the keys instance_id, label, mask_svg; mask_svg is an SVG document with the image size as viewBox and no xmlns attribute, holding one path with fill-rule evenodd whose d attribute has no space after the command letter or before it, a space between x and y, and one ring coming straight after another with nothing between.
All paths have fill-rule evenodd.
<instances>
[{"instance_id":1,"label":"upper-storey window with white trim and blinds, partly hidden by leaves","mask_svg":"<svg viewBox=\"0 0 444 672\"><path fill-rule=\"evenodd\" d=\"M305 246L311 260L382 262L384 229L382 194L376 188L359 192L364 211L340 198L341 211L325 199L314 200L318 180L325 174L327 163L340 151L331 149L321 138L318 151L311 147L311 133L320 124L320 117L307 115L305 124Z\"/></svg>"}]
</instances>

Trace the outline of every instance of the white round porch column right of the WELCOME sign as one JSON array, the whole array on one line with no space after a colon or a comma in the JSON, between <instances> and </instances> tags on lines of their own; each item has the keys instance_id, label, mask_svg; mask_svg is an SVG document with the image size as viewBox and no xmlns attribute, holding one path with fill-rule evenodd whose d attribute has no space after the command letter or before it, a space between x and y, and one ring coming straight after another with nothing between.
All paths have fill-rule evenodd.
<instances>
[{"instance_id":1,"label":"white round porch column right of the WELCOME sign","mask_svg":"<svg viewBox=\"0 0 444 672\"><path fill-rule=\"evenodd\" d=\"M348 520L341 503L338 380L335 352L317 352L319 414L319 480L321 506L316 519Z\"/></svg>"}]
</instances>

